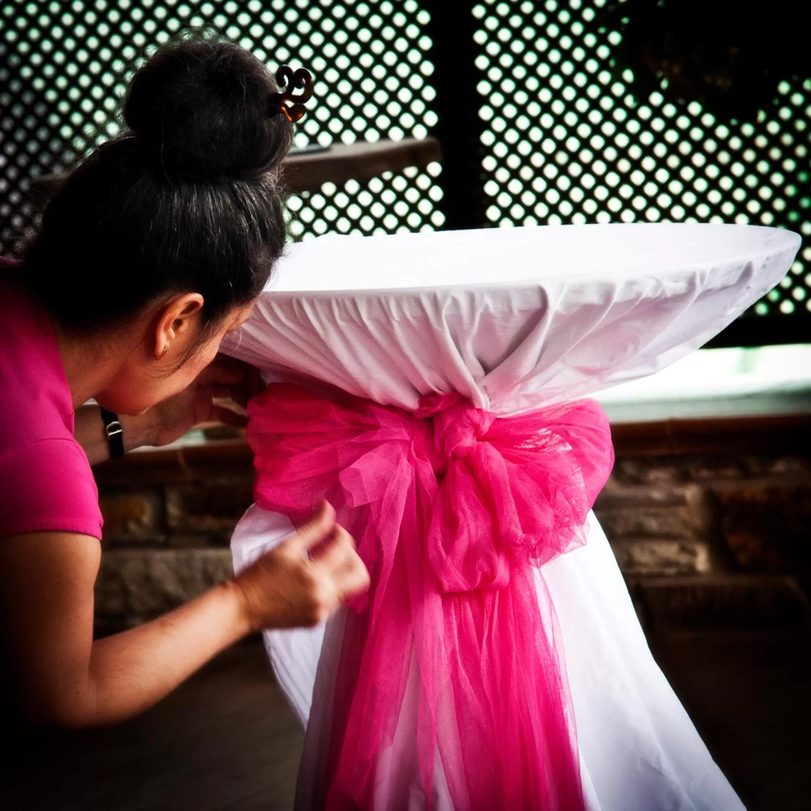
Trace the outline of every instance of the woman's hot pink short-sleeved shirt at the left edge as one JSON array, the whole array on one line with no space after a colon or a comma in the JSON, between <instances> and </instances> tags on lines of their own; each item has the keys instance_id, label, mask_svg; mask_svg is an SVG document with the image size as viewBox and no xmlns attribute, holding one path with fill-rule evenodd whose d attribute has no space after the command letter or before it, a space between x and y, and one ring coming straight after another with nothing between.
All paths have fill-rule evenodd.
<instances>
[{"instance_id":1,"label":"woman's hot pink short-sleeved shirt at the left edge","mask_svg":"<svg viewBox=\"0 0 811 811\"><path fill-rule=\"evenodd\" d=\"M101 539L98 491L42 307L0 257L0 538L47 530Z\"/></svg>"}]
</instances>

